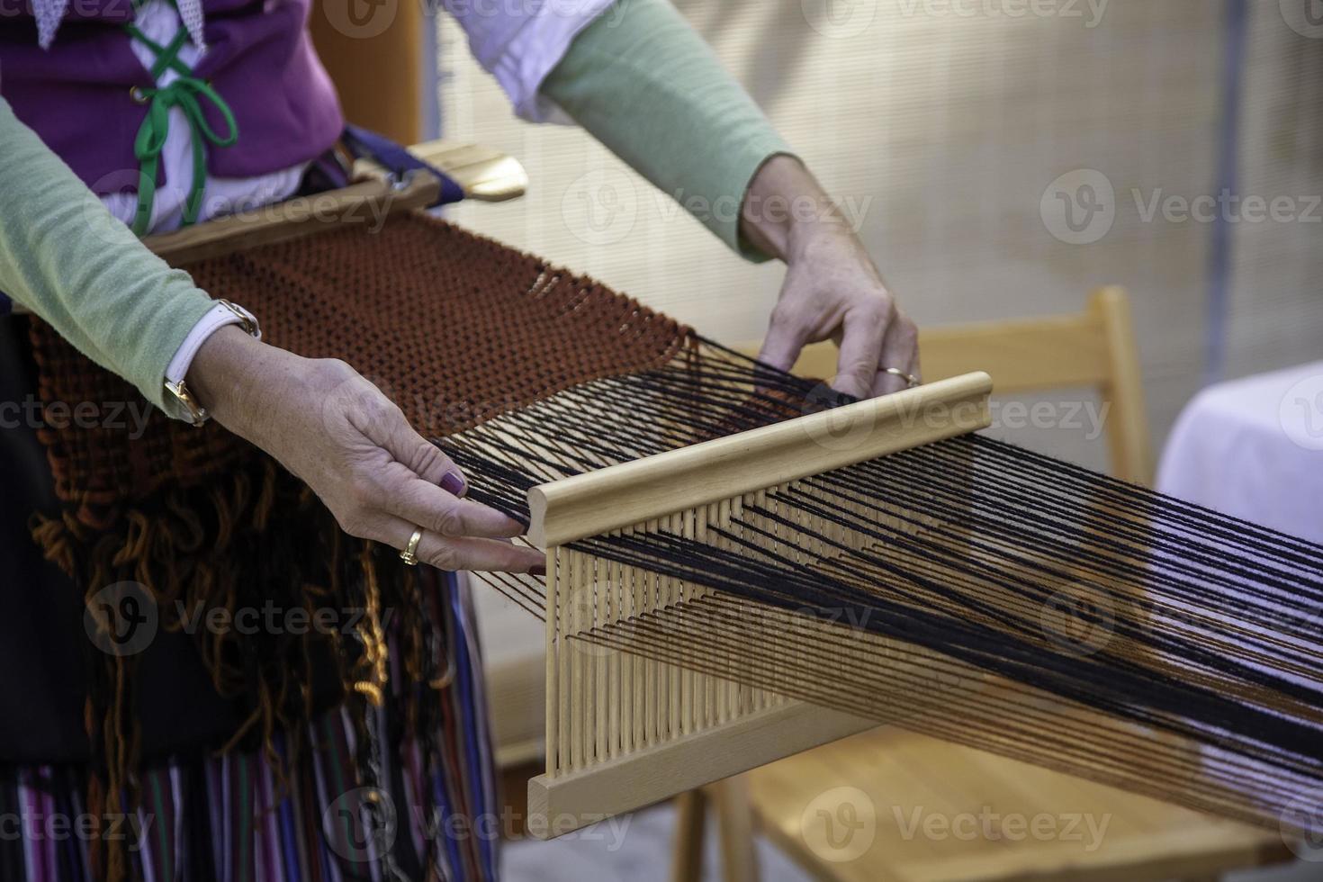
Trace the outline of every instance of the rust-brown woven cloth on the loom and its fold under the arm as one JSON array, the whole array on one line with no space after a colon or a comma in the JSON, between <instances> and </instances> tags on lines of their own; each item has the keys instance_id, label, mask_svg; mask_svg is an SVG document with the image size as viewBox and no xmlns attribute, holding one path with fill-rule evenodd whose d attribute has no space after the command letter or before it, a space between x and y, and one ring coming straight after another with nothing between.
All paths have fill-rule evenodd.
<instances>
[{"instance_id":1,"label":"rust-brown woven cloth on the loom and its fold under the arm","mask_svg":"<svg viewBox=\"0 0 1323 882\"><path fill-rule=\"evenodd\" d=\"M188 268L202 290L251 309L269 342L348 361L429 438L586 380L662 366L689 336L591 279L422 214ZM40 321L33 349L42 401L142 399ZM196 485L254 455L220 426L194 430L160 413L143 438L128 431L42 432L57 493L89 526L163 484Z\"/></svg>"}]
</instances>

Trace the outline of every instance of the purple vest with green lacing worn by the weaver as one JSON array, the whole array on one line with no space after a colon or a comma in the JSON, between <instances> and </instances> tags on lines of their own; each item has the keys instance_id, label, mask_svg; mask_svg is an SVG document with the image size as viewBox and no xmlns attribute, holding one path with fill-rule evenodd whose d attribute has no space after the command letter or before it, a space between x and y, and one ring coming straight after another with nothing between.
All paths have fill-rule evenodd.
<instances>
[{"instance_id":1,"label":"purple vest with green lacing worn by the weaver","mask_svg":"<svg viewBox=\"0 0 1323 882\"><path fill-rule=\"evenodd\" d=\"M208 171L251 177L316 159L344 118L307 32L311 0L202 0L208 50L194 75L234 112L238 141L209 147ZM153 83L122 25L131 0L70 0L49 50L37 45L28 0L0 0L0 95L98 193L123 192L138 169L134 138ZM222 118L204 103L212 128ZM0 159L3 161L3 159Z\"/></svg>"}]
</instances>

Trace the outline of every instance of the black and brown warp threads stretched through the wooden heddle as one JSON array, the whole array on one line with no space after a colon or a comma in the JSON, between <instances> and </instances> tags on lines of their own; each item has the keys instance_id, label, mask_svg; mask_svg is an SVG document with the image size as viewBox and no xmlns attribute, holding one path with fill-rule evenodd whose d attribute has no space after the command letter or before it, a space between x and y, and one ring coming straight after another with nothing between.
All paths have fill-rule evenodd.
<instances>
[{"instance_id":1,"label":"black and brown warp threads stretched through the wooden heddle","mask_svg":"<svg viewBox=\"0 0 1323 882\"><path fill-rule=\"evenodd\" d=\"M525 516L533 484L827 398L705 344L447 450ZM1252 822L1323 808L1316 545L970 435L746 499L704 541L570 547L619 590L713 590L587 640ZM490 579L540 615L541 586Z\"/></svg>"}]
</instances>

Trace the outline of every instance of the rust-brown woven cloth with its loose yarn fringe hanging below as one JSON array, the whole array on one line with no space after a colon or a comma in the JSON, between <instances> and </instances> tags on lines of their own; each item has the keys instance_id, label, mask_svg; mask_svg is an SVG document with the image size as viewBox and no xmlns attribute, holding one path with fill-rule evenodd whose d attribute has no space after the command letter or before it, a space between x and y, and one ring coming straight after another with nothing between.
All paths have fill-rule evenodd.
<instances>
[{"instance_id":1,"label":"rust-brown woven cloth with its loose yarn fringe hanging below","mask_svg":"<svg viewBox=\"0 0 1323 882\"><path fill-rule=\"evenodd\" d=\"M585 381L665 366L697 345L689 329L590 279L425 216L189 268L212 295L255 312L269 342L348 361L431 438L490 424ZM98 413L142 403L49 325L33 321L30 339L48 405L66 402L77 415L78 402L97 402ZM269 603L310 616L318 604L368 611L353 635L200 633L216 694L246 714L224 733L222 748L263 746L275 756L275 735L314 717L315 684L328 672L363 730L360 743L369 742L368 702L400 702L396 718L419 734L438 725L429 690L446 680L443 635L419 612L413 571L394 549L344 536L302 481L216 423L194 428L153 411L135 438L118 421L78 422L56 424L48 411L38 432L64 510L34 516L33 536L89 610L103 608L95 602L103 587L132 582L167 629L181 625L173 610L194 604L232 615ZM381 610L398 612L389 629ZM91 643L89 653L87 800L97 815L115 813L126 795L132 805L143 762L136 660L97 653ZM385 690L386 653L407 673L396 698ZM123 878L122 844L94 845L97 875Z\"/></svg>"}]
</instances>

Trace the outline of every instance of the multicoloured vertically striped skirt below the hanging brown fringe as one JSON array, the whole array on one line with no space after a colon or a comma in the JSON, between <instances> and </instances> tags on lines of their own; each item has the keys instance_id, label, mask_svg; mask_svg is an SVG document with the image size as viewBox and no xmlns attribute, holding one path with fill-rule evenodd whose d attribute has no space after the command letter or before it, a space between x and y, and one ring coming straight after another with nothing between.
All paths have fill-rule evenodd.
<instances>
[{"instance_id":1,"label":"multicoloured vertically striped skirt below the hanging brown fringe","mask_svg":"<svg viewBox=\"0 0 1323 882\"><path fill-rule=\"evenodd\" d=\"M501 819L468 586L427 567L419 577L438 592L437 625L454 651L431 744L372 751L373 780L359 780L363 730L333 710L284 733L277 756L176 756L147 768L135 809L119 817L89 812L81 767L0 766L0 879L95 882L95 836L119 837L144 882L495 879ZM392 743L394 722L372 711L368 737ZM439 763L425 767L426 755Z\"/></svg>"}]
</instances>

